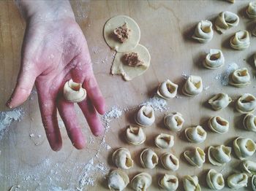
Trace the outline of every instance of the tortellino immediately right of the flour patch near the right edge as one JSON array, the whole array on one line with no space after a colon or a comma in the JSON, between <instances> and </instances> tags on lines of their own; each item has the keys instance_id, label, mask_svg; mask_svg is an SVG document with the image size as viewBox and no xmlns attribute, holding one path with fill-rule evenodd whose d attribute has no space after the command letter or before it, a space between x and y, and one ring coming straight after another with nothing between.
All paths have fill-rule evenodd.
<instances>
[{"instance_id":1,"label":"tortellino immediately right of the flour patch near the right edge","mask_svg":"<svg viewBox=\"0 0 256 191\"><path fill-rule=\"evenodd\" d=\"M246 68L237 69L230 74L228 83L235 87L245 87L251 84L249 71Z\"/></svg>"}]
</instances>

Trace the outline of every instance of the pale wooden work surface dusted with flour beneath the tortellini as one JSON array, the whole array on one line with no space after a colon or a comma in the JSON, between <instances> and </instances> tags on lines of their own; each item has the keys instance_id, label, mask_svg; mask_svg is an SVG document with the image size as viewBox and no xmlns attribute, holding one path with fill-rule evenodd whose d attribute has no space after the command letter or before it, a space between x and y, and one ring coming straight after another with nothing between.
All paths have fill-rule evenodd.
<instances>
[{"instance_id":1,"label":"pale wooden work surface dusted with flour beneath the tortellini","mask_svg":"<svg viewBox=\"0 0 256 191\"><path fill-rule=\"evenodd\" d=\"M136 109L129 109L118 119L110 122L110 129L104 137L94 138L81 112L78 116L83 133L88 140L87 148L76 150L70 143L65 128L61 126L63 147L59 152L53 152L45 137L42 127L37 93L34 90L31 97L21 106L24 110L23 120L13 122L4 138L0 140L0 190L9 190L18 186L18 190L107 190L104 179L108 168L115 168L110 162L111 154L118 147L127 147L135 160L135 167L128 170L130 179L141 171L146 171L153 177L149 190L159 190L157 178L167 173L161 165L154 170L143 169L139 163L140 151L151 147L157 154L162 149L154 146L154 137L162 133L170 133L162 124L162 117L167 112L180 112L185 119L184 128L192 125L203 125L208 132L208 138L201 144L189 144L184 138L184 132L176 133L175 146L171 149L180 158L181 165L175 174L181 180L184 175L198 175L203 190L208 190L205 176L210 168L222 171L225 179L233 172L239 171L239 160L233 155L232 161L223 167L208 163L203 168L189 165L181 156L191 147L207 147L216 144L231 145L236 136L244 136L256 141L255 133L243 129L241 120L244 117L235 111L233 105L220 112L214 112L206 101L215 93L228 93L233 99L242 93L256 95L255 67L252 65L252 55L256 52L256 38L250 35L251 45L243 51L232 50L228 40L236 31L251 29L255 21L249 20L245 8L249 1L236 1L235 4L226 1L72 1L72 7L78 23L88 40L89 50L94 61L94 73L108 104L108 109L117 106L120 109L134 108L151 98L159 82L171 79L182 87L185 79L182 74L195 74L203 78L205 90L195 98L189 98L178 93L178 98L167 101L169 109L156 112L156 122L145 129L146 142L134 147L125 143L123 132L127 125L133 123ZM237 27L231 28L226 34L214 31L211 42L200 44L193 41L193 28L200 20L214 20L219 12L229 10L235 12L241 21ZM124 82L120 76L112 76L110 67L113 60L113 50L110 50L102 37L105 22L115 15L128 15L140 26L140 44L151 53L151 66L143 76L136 77L131 82ZM0 1L0 109L6 111L5 101L12 93L20 66L20 49L26 23L20 16L12 1ZM217 70L204 69L201 65L203 56L210 48L221 49L225 55L225 66ZM237 63L239 67L247 67L252 76L252 84L244 88L222 85L221 79L229 63ZM206 88L208 87L208 88ZM179 89L181 90L181 88ZM230 122L230 130L220 136L212 133L206 125L209 117L220 115ZM34 136L33 136L34 134ZM174 134L174 133L171 133ZM31 136L32 135L32 136ZM104 138L104 140L103 140ZM110 146L106 149L102 145ZM96 155L97 154L97 155ZM89 161L93 160L92 163ZM255 155L249 157L255 160ZM91 164L91 165L90 165ZM91 171L86 171L91 168ZM99 168L102 168L100 170ZM83 184L81 177L85 176L93 186ZM250 179L249 179L250 181ZM128 187L127 190L132 190ZM178 190L183 190L181 181ZM230 190L225 186L223 190ZM241 189L243 190L243 189ZM249 186L244 190L252 190Z\"/></svg>"}]
</instances>

